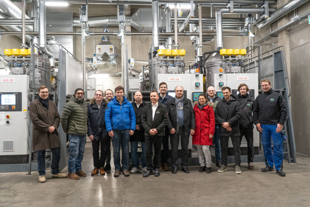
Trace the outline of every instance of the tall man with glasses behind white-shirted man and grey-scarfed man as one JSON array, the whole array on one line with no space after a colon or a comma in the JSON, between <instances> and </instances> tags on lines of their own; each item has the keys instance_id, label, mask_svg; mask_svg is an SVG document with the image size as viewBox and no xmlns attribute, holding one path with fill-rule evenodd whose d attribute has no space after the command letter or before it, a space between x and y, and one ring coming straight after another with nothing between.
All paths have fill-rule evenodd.
<instances>
[{"instance_id":1,"label":"tall man with glasses behind white-shirted man and grey-scarfed man","mask_svg":"<svg viewBox=\"0 0 310 207\"><path fill-rule=\"evenodd\" d=\"M165 82L162 82L162 83L159 83L159 99L158 99L158 102L160 104L164 104L165 106L167 106L167 103L173 99L172 96L169 96L167 94L167 90L168 90L168 87L167 87L167 83ZM161 162L160 162L160 165L159 165L159 170L169 170L169 166L167 164L168 162L168 154L169 154L169 129L168 127L166 126L165 128L165 135L162 137L162 155L161 155Z\"/></svg>"}]
</instances>

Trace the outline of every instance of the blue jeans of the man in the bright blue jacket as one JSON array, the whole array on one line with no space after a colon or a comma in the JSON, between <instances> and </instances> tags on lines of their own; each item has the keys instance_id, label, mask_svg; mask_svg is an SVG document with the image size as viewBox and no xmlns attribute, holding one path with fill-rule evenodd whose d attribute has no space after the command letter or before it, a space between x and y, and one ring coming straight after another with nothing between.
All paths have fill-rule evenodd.
<instances>
[{"instance_id":1,"label":"blue jeans of the man in the bright blue jacket","mask_svg":"<svg viewBox=\"0 0 310 207\"><path fill-rule=\"evenodd\" d=\"M117 130L113 129L114 136L112 137L113 145L113 159L115 170L121 168L121 154L122 147L122 168L128 170L129 161L129 129Z\"/></svg>"}]
</instances>

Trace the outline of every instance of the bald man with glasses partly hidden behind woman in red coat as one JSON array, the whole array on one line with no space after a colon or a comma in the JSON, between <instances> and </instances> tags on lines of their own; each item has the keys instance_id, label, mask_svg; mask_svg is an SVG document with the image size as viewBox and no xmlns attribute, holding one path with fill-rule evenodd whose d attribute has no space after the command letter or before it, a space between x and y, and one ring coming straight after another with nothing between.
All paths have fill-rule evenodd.
<instances>
[{"instance_id":1,"label":"bald man with glasses partly hidden behind woman in red coat","mask_svg":"<svg viewBox=\"0 0 310 207\"><path fill-rule=\"evenodd\" d=\"M220 102L222 99L219 98L215 94L215 88L213 86L210 86L207 89L207 98L209 101L213 102L213 110L215 110L216 105L218 102ZM221 165L221 142L219 140L219 123L215 120L215 133L214 133L214 143L215 143L215 159L216 159L216 166L220 167Z\"/></svg>"}]
</instances>

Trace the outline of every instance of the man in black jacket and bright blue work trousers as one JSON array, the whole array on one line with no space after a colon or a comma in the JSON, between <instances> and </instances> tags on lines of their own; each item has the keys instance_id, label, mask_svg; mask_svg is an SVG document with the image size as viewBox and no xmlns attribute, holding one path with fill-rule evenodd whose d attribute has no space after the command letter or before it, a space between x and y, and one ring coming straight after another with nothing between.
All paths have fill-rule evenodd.
<instances>
[{"instance_id":1,"label":"man in black jacket and bright blue work trousers","mask_svg":"<svg viewBox=\"0 0 310 207\"><path fill-rule=\"evenodd\" d=\"M263 93L256 97L253 108L253 119L256 128L262 133L266 167L262 172L273 171L273 163L276 173L285 176L282 171L283 138L281 136L283 124L286 120L286 106L280 93L273 92L268 79L260 81ZM271 137L273 141L273 155L271 149Z\"/></svg>"}]
</instances>

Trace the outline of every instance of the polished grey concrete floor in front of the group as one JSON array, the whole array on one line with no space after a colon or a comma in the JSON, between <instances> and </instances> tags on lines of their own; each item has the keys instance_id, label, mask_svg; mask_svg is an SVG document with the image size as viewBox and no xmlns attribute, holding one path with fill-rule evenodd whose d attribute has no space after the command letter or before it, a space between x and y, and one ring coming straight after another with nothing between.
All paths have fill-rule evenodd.
<instances>
[{"instance_id":1,"label":"polished grey concrete floor in front of the group","mask_svg":"<svg viewBox=\"0 0 310 207\"><path fill-rule=\"evenodd\" d=\"M241 164L241 174L228 164L224 173L215 165L210 174L189 166L188 174L161 171L160 177L143 178L141 171L114 178L114 170L90 175L92 148L87 142L82 162L86 177L52 179L47 174L47 182L39 183L38 172L0 173L0 206L310 206L309 158L298 154L296 164L284 162L286 177L262 173L261 162L255 170Z\"/></svg>"}]
</instances>

